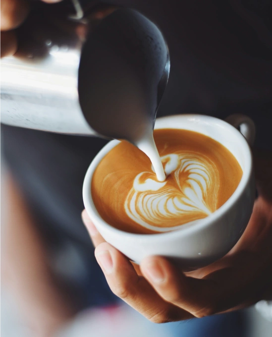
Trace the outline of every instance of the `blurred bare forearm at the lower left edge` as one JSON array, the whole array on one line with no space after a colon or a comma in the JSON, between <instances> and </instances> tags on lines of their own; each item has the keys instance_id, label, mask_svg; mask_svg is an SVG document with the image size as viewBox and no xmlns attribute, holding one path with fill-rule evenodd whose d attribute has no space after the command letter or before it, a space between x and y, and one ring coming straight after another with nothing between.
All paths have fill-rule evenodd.
<instances>
[{"instance_id":1,"label":"blurred bare forearm at the lower left edge","mask_svg":"<svg viewBox=\"0 0 272 337\"><path fill-rule=\"evenodd\" d=\"M2 280L35 336L51 336L72 315L48 265L43 240L20 190L6 181L7 216L1 252Z\"/></svg>"}]
</instances>

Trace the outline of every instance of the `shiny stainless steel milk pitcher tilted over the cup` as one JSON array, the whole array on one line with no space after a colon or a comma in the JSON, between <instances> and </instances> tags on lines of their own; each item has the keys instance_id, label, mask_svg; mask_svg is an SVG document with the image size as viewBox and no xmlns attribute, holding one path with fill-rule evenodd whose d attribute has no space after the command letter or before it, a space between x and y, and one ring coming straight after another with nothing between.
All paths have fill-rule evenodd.
<instances>
[{"instance_id":1,"label":"shiny stainless steel milk pitcher tilted over the cup","mask_svg":"<svg viewBox=\"0 0 272 337\"><path fill-rule=\"evenodd\" d=\"M141 110L140 119L145 115L154 124L151 111L159 105L169 59L153 23L129 9L114 10L97 24L88 15L81 19L80 7L67 13L60 4L33 4L17 32L17 54L0 59L1 123L126 138L109 132L114 123L124 130L133 113L124 106L123 94L135 111Z\"/></svg>"}]
</instances>

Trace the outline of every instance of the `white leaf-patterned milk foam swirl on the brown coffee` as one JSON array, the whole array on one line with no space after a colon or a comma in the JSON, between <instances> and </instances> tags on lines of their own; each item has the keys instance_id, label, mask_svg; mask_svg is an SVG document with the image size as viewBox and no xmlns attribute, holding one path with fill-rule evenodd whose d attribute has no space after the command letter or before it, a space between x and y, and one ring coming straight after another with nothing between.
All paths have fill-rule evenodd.
<instances>
[{"instance_id":1,"label":"white leaf-patterned milk foam swirl on the brown coffee","mask_svg":"<svg viewBox=\"0 0 272 337\"><path fill-rule=\"evenodd\" d=\"M184 224L182 217L189 216L188 222L193 223L216 210L219 174L211 160L185 151L163 156L161 160L166 176L173 174L174 185L167 179L156 180L151 172L139 173L125 200L125 211L130 219L145 228L163 232Z\"/></svg>"}]
</instances>

